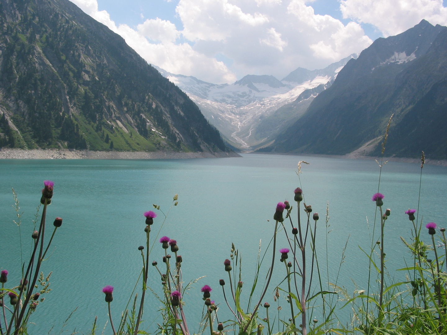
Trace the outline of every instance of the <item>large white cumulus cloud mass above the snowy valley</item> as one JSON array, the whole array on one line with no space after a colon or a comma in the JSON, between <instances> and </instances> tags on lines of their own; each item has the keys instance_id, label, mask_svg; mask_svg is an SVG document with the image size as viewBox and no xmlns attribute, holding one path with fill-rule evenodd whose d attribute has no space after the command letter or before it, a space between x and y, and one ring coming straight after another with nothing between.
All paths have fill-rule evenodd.
<instances>
[{"instance_id":1,"label":"large white cumulus cloud mass above the snowy valley","mask_svg":"<svg viewBox=\"0 0 447 335\"><path fill-rule=\"evenodd\" d=\"M357 0L344 1L346 8L349 1ZM282 79L297 67L322 68L372 42L358 22L344 25L315 14L308 0L180 0L176 14L183 30L160 18L134 28L117 26L98 10L97 0L72 2L121 35L148 63L216 84L247 74Z\"/></svg>"}]
</instances>

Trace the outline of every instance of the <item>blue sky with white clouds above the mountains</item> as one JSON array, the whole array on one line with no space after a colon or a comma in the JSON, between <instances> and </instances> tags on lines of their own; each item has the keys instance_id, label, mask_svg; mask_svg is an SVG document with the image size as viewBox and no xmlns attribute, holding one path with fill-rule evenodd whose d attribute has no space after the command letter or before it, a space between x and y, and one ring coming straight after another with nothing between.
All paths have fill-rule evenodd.
<instances>
[{"instance_id":1,"label":"blue sky with white clouds above the mountains","mask_svg":"<svg viewBox=\"0 0 447 335\"><path fill-rule=\"evenodd\" d=\"M447 0L446 0L447 1ZM72 0L148 63L212 83L323 68L422 19L443 0ZM396 50L400 51L400 50Z\"/></svg>"}]
</instances>

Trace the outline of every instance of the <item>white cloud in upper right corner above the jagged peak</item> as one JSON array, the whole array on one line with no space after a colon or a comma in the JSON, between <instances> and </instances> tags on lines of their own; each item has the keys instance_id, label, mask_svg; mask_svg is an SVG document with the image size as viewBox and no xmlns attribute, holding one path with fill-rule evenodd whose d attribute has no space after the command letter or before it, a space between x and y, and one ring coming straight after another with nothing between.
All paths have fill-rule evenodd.
<instances>
[{"instance_id":1,"label":"white cloud in upper right corner above the jagged peak","mask_svg":"<svg viewBox=\"0 0 447 335\"><path fill-rule=\"evenodd\" d=\"M447 24L443 0L342 0L344 18L375 25L385 37L417 25L422 19L432 25Z\"/></svg>"}]
</instances>

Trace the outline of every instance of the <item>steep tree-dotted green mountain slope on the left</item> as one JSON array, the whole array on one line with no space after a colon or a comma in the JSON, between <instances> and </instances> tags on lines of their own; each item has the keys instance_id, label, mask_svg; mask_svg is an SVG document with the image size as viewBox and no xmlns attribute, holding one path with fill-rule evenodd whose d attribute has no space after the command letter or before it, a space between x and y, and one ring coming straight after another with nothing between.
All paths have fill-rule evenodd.
<instances>
[{"instance_id":1,"label":"steep tree-dotted green mountain slope on the left","mask_svg":"<svg viewBox=\"0 0 447 335\"><path fill-rule=\"evenodd\" d=\"M197 105L67 0L0 0L0 146L226 154Z\"/></svg>"}]
</instances>

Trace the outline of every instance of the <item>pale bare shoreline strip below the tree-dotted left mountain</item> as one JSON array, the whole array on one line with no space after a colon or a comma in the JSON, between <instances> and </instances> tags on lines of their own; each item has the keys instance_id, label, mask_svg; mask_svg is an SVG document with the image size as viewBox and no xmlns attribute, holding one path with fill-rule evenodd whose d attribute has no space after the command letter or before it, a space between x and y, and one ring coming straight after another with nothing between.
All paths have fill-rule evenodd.
<instances>
[{"instance_id":1,"label":"pale bare shoreline strip below the tree-dotted left mountain","mask_svg":"<svg viewBox=\"0 0 447 335\"><path fill-rule=\"evenodd\" d=\"M189 159L241 157L235 152L89 151L75 149L0 149L0 159Z\"/></svg>"}]
</instances>

